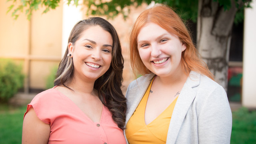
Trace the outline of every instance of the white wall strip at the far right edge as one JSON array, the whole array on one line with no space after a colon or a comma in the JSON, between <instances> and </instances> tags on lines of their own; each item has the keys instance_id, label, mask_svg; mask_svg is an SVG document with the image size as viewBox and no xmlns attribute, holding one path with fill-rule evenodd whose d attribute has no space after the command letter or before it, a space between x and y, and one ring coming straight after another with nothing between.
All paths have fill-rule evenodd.
<instances>
[{"instance_id":1,"label":"white wall strip at the far right edge","mask_svg":"<svg viewBox=\"0 0 256 144\"><path fill-rule=\"evenodd\" d=\"M252 8L246 8L244 19L242 106L256 108L256 0L250 5Z\"/></svg>"}]
</instances>

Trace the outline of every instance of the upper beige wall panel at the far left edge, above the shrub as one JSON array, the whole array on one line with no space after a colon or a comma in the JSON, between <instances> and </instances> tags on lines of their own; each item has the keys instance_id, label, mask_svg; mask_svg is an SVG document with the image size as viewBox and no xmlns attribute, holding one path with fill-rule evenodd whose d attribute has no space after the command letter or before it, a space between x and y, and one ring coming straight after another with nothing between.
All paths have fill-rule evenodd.
<instances>
[{"instance_id":1,"label":"upper beige wall panel at the far left edge, above the shrub","mask_svg":"<svg viewBox=\"0 0 256 144\"><path fill-rule=\"evenodd\" d=\"M0 57L22 57L29 45L29 22L24 20L24 15L13 20L11 13L6 14L8 6L10 4L6 0L0 0Z\"/></svg>"}]
</instances>

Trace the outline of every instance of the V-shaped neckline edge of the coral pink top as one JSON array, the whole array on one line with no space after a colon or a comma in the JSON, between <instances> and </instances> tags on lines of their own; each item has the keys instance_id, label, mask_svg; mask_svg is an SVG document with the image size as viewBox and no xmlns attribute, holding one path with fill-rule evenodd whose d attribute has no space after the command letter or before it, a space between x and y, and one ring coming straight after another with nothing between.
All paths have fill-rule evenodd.
<instances>
[{"instance_id":1,"label":"V-shaped neckline edge of the coral pink top","mask_svg":"<svg viewBox=\"0 0 256 144\"><path fill-rule=\"evenodd\" d=\"M74 107L75 107L76 109L78 109L78 111L79 111L80 113L82 113L82 115L83 115L84 117L86 117L88 120L90 120L90 122L92 122L93 124L94 124L94 123L101 123L101 122L102 122L102 117L104 116L103 114L104 114L104 110L105 110L104 104L102 104L103 106L102 106L102 112L101 112L101 116L100 116L100 121L94 122L94 121L93 121L92 119L90 119L90 118L89 118L89 117L88 117L88 116L87 116L87 115L86 115L86 114L68 97L68 96L66 96L65 94L63 94L63 93L60 92L59 90L55 89L55 87L52 88L52 89L56 90L60 96L66 98L66 99L70 102L70 104L74 105Z\"/></svg>"}]
</instances>

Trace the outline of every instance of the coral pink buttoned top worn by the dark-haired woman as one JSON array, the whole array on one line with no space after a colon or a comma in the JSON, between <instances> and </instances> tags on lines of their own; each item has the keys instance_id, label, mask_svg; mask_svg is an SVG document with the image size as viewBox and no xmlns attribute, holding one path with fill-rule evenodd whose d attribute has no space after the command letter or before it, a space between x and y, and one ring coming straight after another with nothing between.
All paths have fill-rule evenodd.
<instances>
[{"instance_id":1,"label":"coral pink buttoned top worn by the dark-haired woman","mask_svg":"<svg viewBox=\"0 0 256 144\"><path fill-rule=\"evenodd\" d=\"M100 122L93 122L72 100L54 88L36 95L26 113L31 106L40 120L50 124L48 144L126 143L123 130L112 120L106 106L103 106Z\"/></svg>"}]
</instances>

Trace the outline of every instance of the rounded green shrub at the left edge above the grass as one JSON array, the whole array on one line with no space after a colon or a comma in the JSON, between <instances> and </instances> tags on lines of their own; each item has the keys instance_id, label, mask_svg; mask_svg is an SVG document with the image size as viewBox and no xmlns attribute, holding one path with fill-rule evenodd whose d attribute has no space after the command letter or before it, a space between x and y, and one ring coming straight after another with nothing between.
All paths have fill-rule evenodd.
<instances>
[{"instance_id":1,"label":"rounded green shrub at the left edge above the grass","mask_svg":"<svg viewBox=\"0 0 256 144\"><path fill-rule=\"evenodd\" d=\"M8 102L23 87L22 66L10 59L0 59L0 102Z\"/></svg>"}]
</instances>

